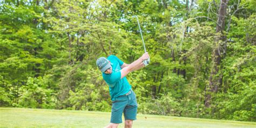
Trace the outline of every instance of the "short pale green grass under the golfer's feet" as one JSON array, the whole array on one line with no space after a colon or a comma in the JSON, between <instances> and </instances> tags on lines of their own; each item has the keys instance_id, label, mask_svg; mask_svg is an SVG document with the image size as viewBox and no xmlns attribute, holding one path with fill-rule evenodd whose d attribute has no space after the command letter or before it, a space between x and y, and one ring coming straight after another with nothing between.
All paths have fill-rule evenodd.
<instances>
[{"instance_id":1,"label":"short pale green grass under the golfer's feet","mask_svg":"<svg viewBox=\"0 0 256 128\"><path fill-rule=\"evenodd\" d=\"M0 127L104 127L110 112L20 109L0 107ZM124 127L124 123L119 127ZM255 122L237 122L138 114L133 127L256 127Z\"/></svg>"}]
</instances>

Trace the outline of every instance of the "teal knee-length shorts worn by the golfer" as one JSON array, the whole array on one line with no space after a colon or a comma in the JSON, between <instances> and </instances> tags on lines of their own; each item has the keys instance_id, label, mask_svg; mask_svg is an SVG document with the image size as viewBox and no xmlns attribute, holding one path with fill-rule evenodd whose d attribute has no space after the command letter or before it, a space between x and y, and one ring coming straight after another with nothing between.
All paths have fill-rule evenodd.
<instances>
[{"instance_id":1,"label":"teal knee-length shorts worn by the golfer","mask_svg":"<svg viewBox=\"0 0 256 128\"><path fill-rule=\"evenodd\" d=\"M116 100L112 102L110 123L122 123L123 113L125 120L136 120L137 108L136 95L133 91L130 95L117 97Z\"/></svg>"}]
</instances>

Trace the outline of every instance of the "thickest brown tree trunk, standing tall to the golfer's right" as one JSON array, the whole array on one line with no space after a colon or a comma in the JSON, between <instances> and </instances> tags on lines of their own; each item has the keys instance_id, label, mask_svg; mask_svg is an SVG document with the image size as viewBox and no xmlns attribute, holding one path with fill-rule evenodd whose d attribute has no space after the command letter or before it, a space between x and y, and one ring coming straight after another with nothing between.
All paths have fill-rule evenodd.
<instances>
[{"instance_id":1,"label":"thickest brown tree trunk, standing tall to the golfer's right","mask_svg":"<svg viewBox=\"0 0 256 128\"><path fill-rule=\"evenodd\" d=\"M220 62L221 62L221 55L220 55L220 49L221 46L225 46L225 40L226 36L223 35L223 30L225 27L225 16L226 16L226 11L227 11L227 3L228 0L221 0L220 3L220 9L218 12L218 25L216 26L216 33L220 33L221 36L215 38L216 42L216 48L213 50L212 54L212 61L213 61L213 66L211 69L211 75L209 78L209 85L206 89L206 97L205 97L205 106L210 107L210 100L212 98L211 93L217 93L218 87L220 86L222 82L222 75L220 70ZM222 44L218 44L218 42L221 41Z\"/></svg>"}]
</instances>

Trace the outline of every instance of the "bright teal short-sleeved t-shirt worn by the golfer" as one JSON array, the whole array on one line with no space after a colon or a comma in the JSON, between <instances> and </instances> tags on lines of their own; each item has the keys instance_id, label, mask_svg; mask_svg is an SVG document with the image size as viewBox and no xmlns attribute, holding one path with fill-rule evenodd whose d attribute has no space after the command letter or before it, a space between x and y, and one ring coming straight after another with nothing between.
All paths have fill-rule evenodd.
<instances>
[{"instance_id":1,"label":"bright teal short-sleeved t-shirt worn by the golfer","mask_svg":"<svg viewBox=\"0 0 256 128\"><path fill-rule=\"evenodd\" d=\"M109 85L109 92L111 100L114 101L118 96L125 95L131 90L131 85L128 83L126 77L121 79L121 66L124 64L122 60L114 55L107 57L112 66L112 73L102 73L103 79Z\"/></svg>"}]
</instances>

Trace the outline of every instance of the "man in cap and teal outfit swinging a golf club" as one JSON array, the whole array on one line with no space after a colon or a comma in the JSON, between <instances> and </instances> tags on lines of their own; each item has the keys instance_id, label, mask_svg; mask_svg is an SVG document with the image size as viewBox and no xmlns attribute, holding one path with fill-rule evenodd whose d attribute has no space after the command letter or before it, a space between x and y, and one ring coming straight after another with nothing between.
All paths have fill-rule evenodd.
<instances>
[{"instance_id":1,"label":"man in cap and teal outfit swinging a golf club","mask_svg":"<svg viewBox=\"0 0 256 128\"><path fill-rule=\"evenodd\" d=\"M111 120L106 127L113 128L122 123L123 113L125 127L132 127L132 121L136 120L138 105L136 95L125 76L148 65L147 59L149 57L149 54L145 52L142 57L131 64L122 62L114 55L97 59L96 64L102 71L103 79L109 85L112 100Z\"/></svg>"}]
</instances>

